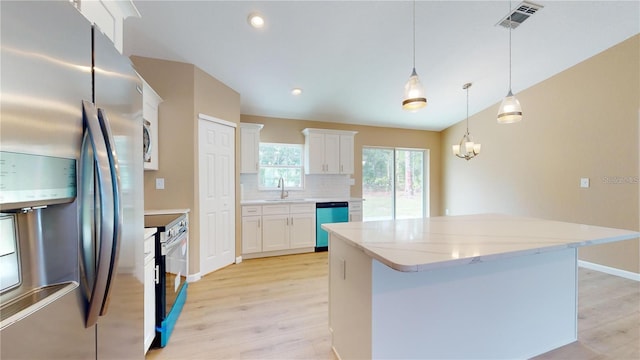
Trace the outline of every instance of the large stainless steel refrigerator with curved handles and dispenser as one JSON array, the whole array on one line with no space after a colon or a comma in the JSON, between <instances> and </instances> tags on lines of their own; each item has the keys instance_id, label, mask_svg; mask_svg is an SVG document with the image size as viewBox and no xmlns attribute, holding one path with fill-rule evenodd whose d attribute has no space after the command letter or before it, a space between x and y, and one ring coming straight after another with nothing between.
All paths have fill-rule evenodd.
<instances>
[{"instance_id":1,"label":"large stainless steel refrigerator with curved handles and dispenser","mask_svg":"<svg viewBox=\"0 0 640 360\"><path fill-rule=\"evenodd\" d=\"M0 17L0 358L143 358L140 80L69 1Z\"/></svg>"}]
</instances>

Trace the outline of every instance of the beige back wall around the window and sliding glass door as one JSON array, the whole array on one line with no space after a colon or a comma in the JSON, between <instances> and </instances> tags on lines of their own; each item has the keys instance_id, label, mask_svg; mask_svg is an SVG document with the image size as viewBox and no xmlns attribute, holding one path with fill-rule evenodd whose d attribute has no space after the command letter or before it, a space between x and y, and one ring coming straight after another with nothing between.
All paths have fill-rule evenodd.
<instances>
[{"instance_id":1,"label":"beige back wall around the window and sliding glass door","mask_svg":"<svg viewBox=\"0 0 640 360\"><path fill-rule=\"evenodd\" d=\"M280 142L291 144L304 144L304 135L301 131L305 128L352 130L358 133L354 142L355 171L353 178L355 185L351 187L352 197L362 197L362 147L386 146L405 147L430 150L430 195L431 214L440 213L440 133L422 130L395 129L375 126L346 125L338 123L290 120L269 118L263 116L242 115L242 122L264 124L260 132L262 142Z\"/></svg>"}]
</instances>

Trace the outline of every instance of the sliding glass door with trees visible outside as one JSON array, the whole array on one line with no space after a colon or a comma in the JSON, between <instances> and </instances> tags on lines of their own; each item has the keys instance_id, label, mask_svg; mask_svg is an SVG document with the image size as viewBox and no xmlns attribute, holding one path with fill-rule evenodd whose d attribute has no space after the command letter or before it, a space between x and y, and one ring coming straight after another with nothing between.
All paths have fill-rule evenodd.
<instances>
[{"instance_id":1,"label":"sliding glass door with trees visible outside","mask_svg":"<svg viewBox=\"0 0 640 360\"><path fill-rule=\"evenodd\" d=\"M428 216L428 152L363 147L363 221Z\"/></svg>"}]
</instances>

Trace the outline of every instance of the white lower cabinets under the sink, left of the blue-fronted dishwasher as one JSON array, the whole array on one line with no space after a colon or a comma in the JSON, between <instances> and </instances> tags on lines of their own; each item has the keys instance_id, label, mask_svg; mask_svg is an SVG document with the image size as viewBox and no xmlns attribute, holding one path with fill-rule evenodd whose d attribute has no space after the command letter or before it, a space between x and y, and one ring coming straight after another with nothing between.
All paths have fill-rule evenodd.
<instances>
[{"instance_id":1,"label":"white lower cabinets under the sink, left of the blue-fronted dishwasher","mask_svg":"<svg viewBox=\"0 0 640 360\"><path fill-rule=\"evenodd\" d=\"M315 203L243 206L243 255L281 255L313 248L315 211Z\"/></svg>"}]
</instances>

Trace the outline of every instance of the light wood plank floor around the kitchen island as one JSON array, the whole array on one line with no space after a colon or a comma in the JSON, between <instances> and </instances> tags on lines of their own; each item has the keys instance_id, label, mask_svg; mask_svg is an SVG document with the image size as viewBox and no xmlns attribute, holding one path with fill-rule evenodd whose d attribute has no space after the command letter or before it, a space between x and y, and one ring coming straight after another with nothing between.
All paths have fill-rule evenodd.
<instances>
[{"instance_id":1,"label":"light wood plank floor around the kitchen island","mask_svg":"<svg viewBox=\"0 0 640 360\"><path fill-rule=\"evenodd\" d=\"M245 260L189 284L147 359L330 359L327 253ZM579 340L536 359L640 359L640 283L579 272Z\"/></svg>"}]
</instances>

